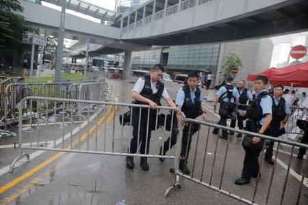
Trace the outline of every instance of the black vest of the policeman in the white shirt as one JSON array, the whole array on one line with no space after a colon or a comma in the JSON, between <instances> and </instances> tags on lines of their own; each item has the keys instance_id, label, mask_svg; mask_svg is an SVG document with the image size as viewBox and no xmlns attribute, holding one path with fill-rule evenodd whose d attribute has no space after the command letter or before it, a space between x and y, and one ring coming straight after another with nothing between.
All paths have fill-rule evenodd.
<instances>
[{"instance_id":1,"label":"black vest of the policeman in the white shirt","mask_svg":"<svg viewBox=\"0 0 308 205\"><path fill-rule=\"evenodd\" d=\"M151 88L151 75L145 75L142 78L144 79L144 86L142 91L140 92L140 95L143 96L144 98L152 100L157 105L161 105L160 99L162 98L162 93L164 92L164 83L162 83L161 81L157 81L156 82L157 93L153 94L153 90ZM135 103L147 105L147 103L138 100L136 100Z\"/></svg>"}]
</instances>

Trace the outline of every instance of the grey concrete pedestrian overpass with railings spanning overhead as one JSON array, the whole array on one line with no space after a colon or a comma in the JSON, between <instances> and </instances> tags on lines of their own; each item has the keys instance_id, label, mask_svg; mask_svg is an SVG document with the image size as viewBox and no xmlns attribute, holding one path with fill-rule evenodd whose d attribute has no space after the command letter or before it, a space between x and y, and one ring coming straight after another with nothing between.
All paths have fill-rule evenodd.
<instances>
[{"instance_id":1,"label":"grey concrete pedestrian overpass with railings spanning overhead","mask_svg":"<svg viewBox=\"0 0 308 205\"><path fill-rule=\"evenodd\" d=\"M48 0L59 5L58 0ZM79 3L78 3L79 2ZM75 4L74 4L75 3ZM93 10L71 0L72 10L109 20L108 25L66 14L65 38L101 44L95 53L113 54L149 49L153 45L230 42L295 33L308 29L306 0L151 0L123 14ZM73 5L71 5L73 4ZM60 12L21 1L25 19L40 32L57 36ZM79 48L80 49L80 48ZM129 67L130 58L124 66Z\"/></svg>"}]
</instances>

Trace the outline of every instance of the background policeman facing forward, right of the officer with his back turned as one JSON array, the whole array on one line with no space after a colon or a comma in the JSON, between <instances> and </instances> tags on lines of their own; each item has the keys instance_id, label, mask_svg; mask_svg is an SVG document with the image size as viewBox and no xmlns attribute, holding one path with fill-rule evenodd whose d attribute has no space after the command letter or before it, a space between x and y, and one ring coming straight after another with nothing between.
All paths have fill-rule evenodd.
<instances>
[{"instance_id":1,"label":"background policeman facing forward, right of the officer with his back turned","mask_svg":"<svg viewBox=\"0 0 308 205\"><path fill-rule=\"evenodd\" d=\"M246 110L247 101L248 100L253 100L253 95L246 88L246 81L243 81L243 80L239 81L237 89L238 89L238 93L240 94L239 103L238 103L238 109ZM244 127L243 120L245 118L242 118L240 115L237 115L237 116L238 116L238 128L240 130L242 130L243 127ZM235 128L235 123L236 123L236 119L231 120L230 127L231 128ZM233 135L232 131L230 131L230 135ZM238 133L237 137L242 137L242 133Z\"/></svg>"}]
</instances>

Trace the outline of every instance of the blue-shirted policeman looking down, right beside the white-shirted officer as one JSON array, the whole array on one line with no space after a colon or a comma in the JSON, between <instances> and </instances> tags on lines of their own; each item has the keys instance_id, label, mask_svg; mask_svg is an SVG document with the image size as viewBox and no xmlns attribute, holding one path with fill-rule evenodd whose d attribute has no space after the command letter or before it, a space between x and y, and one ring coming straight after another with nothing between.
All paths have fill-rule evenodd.
<instances>
[{"instance_id":1,"label":"blue-shirted policeman looking down, right beside the white-shirted officer","mask_svg":"<svg viewBox=\"0 0 308 205\"><path fill-rule=\"evenodd\" d=\"M195 119L202 115L202 120L205 120L205 109L203 109L201 102L204 100L198 85L198 72L190 71L188 73L188 81L186 85L180 87L177 92L177 98L175 100L175 105L177 109L180 109L184 114L185 118ZM181 119L177 115L177 121ZM192 142L192 135L198 131L198 124L186 124L183 128L183 138L181 147L181 156L179 161L179 169L184 174L190 174L190 169L186 165L188 154L190 152L190 143ZM159 155L166 154L169 149L170 137L164 142L164 150L162 147L159 150ZM170 148L177 143L177 124L172 126L172 135ZM186 150L188 148L188 150ZM160 161L164 161L164 158L159 158Z\"/></svg>"}]
</instances>

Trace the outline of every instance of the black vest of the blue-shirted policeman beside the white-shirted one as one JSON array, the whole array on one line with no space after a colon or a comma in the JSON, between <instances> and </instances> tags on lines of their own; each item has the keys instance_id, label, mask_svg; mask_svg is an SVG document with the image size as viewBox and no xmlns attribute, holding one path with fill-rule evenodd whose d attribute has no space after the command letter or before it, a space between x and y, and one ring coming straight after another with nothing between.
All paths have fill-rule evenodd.
<instances>
[{"instance_id":1,"label":"black vest of the blue-shirted policeman beside the white-shirted one","mask_svg":"<svg viewBox=\"0 0 308 205\"><path fill-rule=\"evenodd\" d=\"M184 85L182 87L183 92L185 94L185 99L181 111L185 114L186 118L195 119L199 115L202 114L201 109L201 101L200 101L200 88L196 87L196 91L194 92L194 103L192 103L192 99L190 98L190 87L189 85Z\"/></svg>"}]
</instances>

